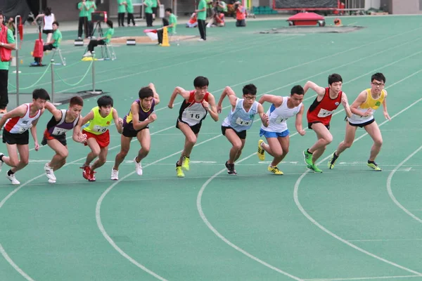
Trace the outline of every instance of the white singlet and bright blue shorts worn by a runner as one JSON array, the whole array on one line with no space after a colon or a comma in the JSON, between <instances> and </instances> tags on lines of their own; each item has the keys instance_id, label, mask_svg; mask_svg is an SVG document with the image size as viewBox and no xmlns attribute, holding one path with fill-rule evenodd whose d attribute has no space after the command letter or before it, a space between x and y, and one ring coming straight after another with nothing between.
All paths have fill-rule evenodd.
<instances>
[{"instance_id":1,"label":"white singlet and bright blue shorts worn by a runner","mask_svg":"<svg viewBox=\"0 0 422 281\"><path fill-rule=\"evenodd\" d=\"M275 107L274 104L269 107L267 111L268 126L261 125L260 136L265 136L265 138L284 138L288 136L290 131L287 129L286 120L297 115L303 106L300 103L297 107L288 108L288 99L289 97L283 97L283 103L279 107Z\"/></svg>"}]
</instances>

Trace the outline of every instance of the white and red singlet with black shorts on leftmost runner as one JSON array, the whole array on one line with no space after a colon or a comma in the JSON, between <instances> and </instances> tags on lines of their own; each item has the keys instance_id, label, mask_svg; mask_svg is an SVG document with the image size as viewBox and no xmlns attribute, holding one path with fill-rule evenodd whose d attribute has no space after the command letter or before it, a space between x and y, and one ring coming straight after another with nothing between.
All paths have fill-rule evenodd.
<instances>
[{"instance_id":1,"label":"white and red singlet with black shorts on leftmost runner","mask_svg":"<svg viewBox=\"0 0 422 281\"><path fill-rule=\"evenodd\" d=\"M13 117L6 121L3 130L3 143L9 145L27 145L30 142L29 129L32 122L41 116L41 110L37 110L34 116L30 116L30 103L25 103L27 111L23 117Z\"/></svg>"}]
</instances>

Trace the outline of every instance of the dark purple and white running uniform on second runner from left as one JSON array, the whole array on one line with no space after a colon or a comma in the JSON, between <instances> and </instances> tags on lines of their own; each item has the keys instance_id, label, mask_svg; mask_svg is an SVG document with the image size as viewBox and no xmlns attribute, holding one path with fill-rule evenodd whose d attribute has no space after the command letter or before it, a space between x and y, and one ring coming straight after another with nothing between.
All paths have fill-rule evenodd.
<instances>
[{"instance_id":1,"label":"dark purple and white running uniform on second runner from left","mask_svg":"<svg viewBox=\"0 0 422 281\"><path fill-rule=\"evenodd\" d=\"M44 138L42 138L41 145L46 145L47 141L57 140L60 141L62 145L68 145L66 141L66 132L72 130L79 122L80 115L71 123L66 123L66 115L68 110L60 110L62 112L62 117L60 120L51 117L49 123L47 124L47 129L44 131Z\"/></svg>"}]
</instances>

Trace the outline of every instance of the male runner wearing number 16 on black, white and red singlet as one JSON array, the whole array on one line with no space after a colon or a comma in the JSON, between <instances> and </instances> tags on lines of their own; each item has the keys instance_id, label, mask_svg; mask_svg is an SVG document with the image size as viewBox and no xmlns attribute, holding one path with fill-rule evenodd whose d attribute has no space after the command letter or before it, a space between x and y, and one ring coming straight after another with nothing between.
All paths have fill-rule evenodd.
<instances>
[{"instance_id":1,"label":"male runner wearing number 16 on black, white and red singlet","mask_svg":"<svg viewBox=\"0 0 422 281\"><path fill-rule=\"evenodd\" d=\"M177 86L169 101L169 108L173 108L174 99L177 94L184 98L179 110L179 117L177 118L176 128L179 129L185 136L184 150L181 152L179 161L176 163L177 177L183 178L184 172L189 171L189 161L193 145L195 145L202 126L203 119L210 112L211 118L217 122L218 113L215 107L215 98L211 93L208 93L207 77L198 76L193 80L195 90L186 91L185 89ZM183 169L183 170L182 170Z\"/></svg>"}]
</instances>

